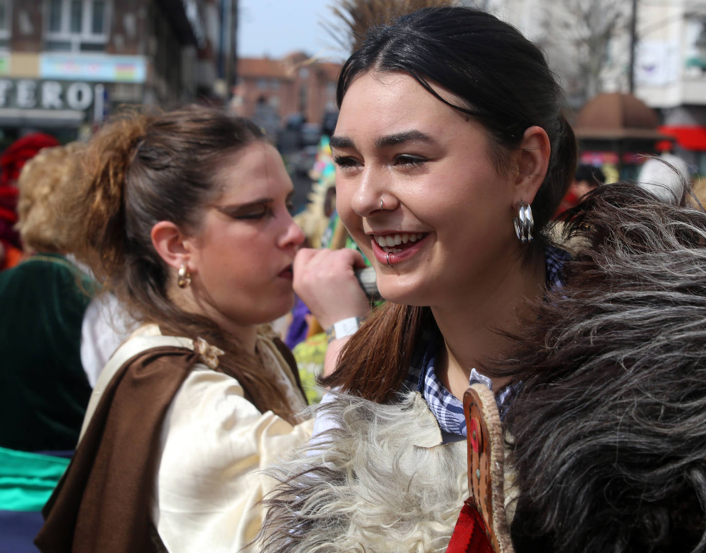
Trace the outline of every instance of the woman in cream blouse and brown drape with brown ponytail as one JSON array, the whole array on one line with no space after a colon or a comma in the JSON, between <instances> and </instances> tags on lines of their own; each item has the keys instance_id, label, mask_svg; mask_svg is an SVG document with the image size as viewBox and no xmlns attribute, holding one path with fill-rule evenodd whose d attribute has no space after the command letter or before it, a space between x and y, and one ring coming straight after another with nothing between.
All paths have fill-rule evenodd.
<instances>
[{"instance_id":1,"label":"woman in cream blouse and brown drape with brown ponytail","mask_svg":"<svg viewBox=\"0 0 706 553\"><path fill-rule=\"evenodd\" d=\"M36 543L249 550L258 469L311 435L294 359L263 326L294 302L292 182L258 127L203 107L118 116L84 163L76 257L143 326L98 379Z\"/></svg>"}]
</instances>

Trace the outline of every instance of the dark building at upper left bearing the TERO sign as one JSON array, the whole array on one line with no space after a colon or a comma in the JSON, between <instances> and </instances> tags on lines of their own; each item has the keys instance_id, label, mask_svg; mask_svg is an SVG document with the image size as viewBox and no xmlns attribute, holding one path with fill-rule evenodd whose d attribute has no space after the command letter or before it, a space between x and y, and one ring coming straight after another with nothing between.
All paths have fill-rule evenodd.
<instances>
[{"instance_id":1,"label":"dark building at upper left bearing the TERO sign","mask_svg":"<svg viewBox=\"0 0 706 553\"><path fill-rule=\"evenodd\" d=\"M224 9L227 7L227 10ZM119 104L225 97L237 0L0 0L0 130L73 140ZM224 32L227 30L227 32Z\"/></svg>"}]
</instances>

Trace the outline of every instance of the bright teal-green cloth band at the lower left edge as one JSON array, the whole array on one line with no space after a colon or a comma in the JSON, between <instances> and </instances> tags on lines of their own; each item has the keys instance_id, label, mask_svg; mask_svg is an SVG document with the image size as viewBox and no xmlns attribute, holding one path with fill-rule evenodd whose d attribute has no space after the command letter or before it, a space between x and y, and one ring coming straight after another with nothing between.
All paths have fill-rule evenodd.
<instances>
[{"instance_id":1,"label":"bright teal-green cloth band at the lower left edge","mask_svg":"<svg viewBox=\"0 0 706 553\"><path fill-rule=\"evenodd\" d=\"M0 447L0 509L41 511L68 459Z\"/></svg>"}]
</instances>

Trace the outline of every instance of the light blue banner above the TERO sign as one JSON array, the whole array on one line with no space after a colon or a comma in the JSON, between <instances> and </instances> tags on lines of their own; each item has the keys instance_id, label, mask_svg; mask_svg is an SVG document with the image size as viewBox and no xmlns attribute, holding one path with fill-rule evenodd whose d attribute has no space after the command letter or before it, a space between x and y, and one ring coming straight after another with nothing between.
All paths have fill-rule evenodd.
<instances>
[{"instance_id":1,"label":"light blue banner above the TERO sign","mask_svg":"<svg viewBox=\"0 0 706 553\"><path fill-rule=\"evenodd\" d=\"M41 54L40 77L102 83L144 83L147 63L143 56Z\"/></svg>"}]
</instances>

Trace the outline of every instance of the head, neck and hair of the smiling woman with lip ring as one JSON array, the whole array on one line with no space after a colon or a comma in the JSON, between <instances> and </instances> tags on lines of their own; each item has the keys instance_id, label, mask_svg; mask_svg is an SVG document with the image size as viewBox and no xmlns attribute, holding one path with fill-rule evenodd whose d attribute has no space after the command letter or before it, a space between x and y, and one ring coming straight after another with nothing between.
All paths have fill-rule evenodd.
<instances>
[{"instance_id":1,"label":"head, neck and hair of the smiling woman with lip ring","mask_svg":"<svg viewBox=\"0 0 706 553\"><path fill-rule=\"evenodd\" d=\"M515 326L561 265L544 238L576 162L561 89L510 25L427 8L368 33L337 99L337 208L388 303L324 383L393 399L431 326L444 344L436 374L450 391L460 377L462 394L470 367L503 350L493 329ZM525 204L533 228L516 233Z\"/></svg>"}]
</instances>

